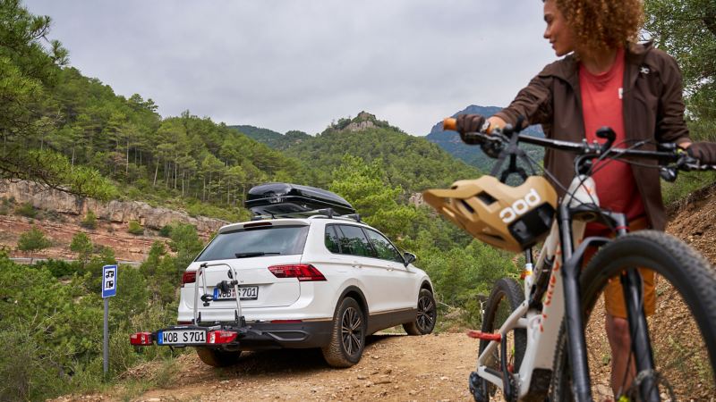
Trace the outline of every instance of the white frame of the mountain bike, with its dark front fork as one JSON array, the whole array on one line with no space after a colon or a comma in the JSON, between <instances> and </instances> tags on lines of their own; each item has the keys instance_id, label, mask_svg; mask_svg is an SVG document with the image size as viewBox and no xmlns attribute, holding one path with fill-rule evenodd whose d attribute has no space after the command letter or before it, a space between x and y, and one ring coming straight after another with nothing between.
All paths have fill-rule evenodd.
<instances>
[{"instance_id":1,"label":"white frame of the mountain bike, with its dark front fork","mask_svg":"<svg viewBox=\"0 0 716 402\"><path fill-rule=\"evenodd\" d=\"M524 278L524 302L509 315L499 328L502 339L515 329L524 329L527 334L527 346L523 361L515 377L517 398L523 398L535 391L535 376L550 379L558 335L563 318L567 316L567 336L570 341L569 356L573 367L573 382L577 391L577 400L591 400L589 372L586 362L582 308L579 298L578 272L582 263L582 255L588 246L601 246L612 239L584 237L586 227L584 204L599 206L594 196L596 188L591 178L575 176L567 196L559 205L558 219L552 223L550 234L545 239L537 263L532 266L531 258L527 258ZM626 218L623 214L611 214L602 211L620 228L618 235L626 233ZM581 244L580 244L581 243ZM579 245L573 251L573 245ZM564 248L563 248L564 247ZM525 253L531 255L532 250ZM553 261L549 272L548 289L541 301L541 309L531 307L533 302L534 272L542 272L547 261ZM542 272L541 274L546 274ZM641 281L636 277L635 281ZM629 289L632 287L630 286ZM636 314L638 315L638 314ZM644 327L645 328L645 327ZM490 341L477 359L478 375L505 390L503 373L496 372L486 365L488 359L500 347L499 341ZM501 354L500 354L501 355ZM503 368L503 370L505 370Z\"/></svg>"}]
</instances>

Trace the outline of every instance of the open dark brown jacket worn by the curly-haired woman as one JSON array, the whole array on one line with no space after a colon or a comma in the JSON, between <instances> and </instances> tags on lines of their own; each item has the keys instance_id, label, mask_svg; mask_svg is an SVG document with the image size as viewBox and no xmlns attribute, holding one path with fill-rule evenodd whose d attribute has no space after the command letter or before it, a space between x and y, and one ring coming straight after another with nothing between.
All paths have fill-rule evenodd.
<instances>
[{"instance_id":1,"label":"open dark brown jacket worn by the curly-haired woman","mask_svg":"<svg viewBox=\"0 0 716 402\"><path fill-rule=\"evenodd\" d=\"M681 97L681 71L676 61L651 44L626 49L624 68L624 128L627 139L651 138L681 144L689 140ZM541 124L548 138L579 141L584 136L578 62L572 54L547 65L515 100L496 116L515 124L523 115L530 124ZM654 149L647 145L640 149ZM575 175L575 156L547 150L544 166L564 187ZM640 163L656 166L656 161ZM632 165L639 193L651 227L663 230L666 224L659 170ZM565 191L557 186L559 196Z\"/></svg>"}]
</instances>

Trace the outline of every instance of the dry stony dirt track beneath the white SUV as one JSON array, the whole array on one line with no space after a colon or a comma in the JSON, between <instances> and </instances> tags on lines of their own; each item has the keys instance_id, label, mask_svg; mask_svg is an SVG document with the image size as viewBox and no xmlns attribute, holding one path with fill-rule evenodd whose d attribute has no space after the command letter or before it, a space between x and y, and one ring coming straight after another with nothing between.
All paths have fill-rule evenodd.
<instances>
[{"instance_id":1,"label":"dry stony dirt track beneath the white SUV","mask_svg":"<svg viewBox=\"0 0 716 402\"><path fill-rule=\"evenodd\" d=\"M463 333L377 334L368 339L361 362L343 370L328 368L318 350L246 354L226 369L213 369L189 354L178 359L181 371L168 388L149 390L133 400L472 401L467 376L476 350L477 341ZM144 373L132 375L157 369L145 366ZM122 394L117 389L99 399L118 400L125 398Z\"/></svg>"}]
</instances>

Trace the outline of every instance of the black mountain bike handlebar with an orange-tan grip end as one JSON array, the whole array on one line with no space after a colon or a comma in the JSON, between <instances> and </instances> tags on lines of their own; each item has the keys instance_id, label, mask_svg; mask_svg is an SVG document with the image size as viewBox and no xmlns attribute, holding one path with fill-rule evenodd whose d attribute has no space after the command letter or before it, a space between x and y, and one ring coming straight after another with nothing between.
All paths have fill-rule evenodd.
<instances>
[{"instance_id":1,"label":"black mountain bike handlebar with an orange-tan grip end","mask_svg":"<svg viewBox=\"0 0 716 402\"><path fill-rule=\"evenodd\" d=\"M448 117L443 120L443 130L457 130L457 119ZM493 130L491 134L483 132L466 132L463 133L465 139L473 139L470 141L474 144L492 143L497 147L503 147L509 142L509 137L504 134L512 132L511 127L507 130ZM561 139L533 137L527 134L516 134L518 142L532 144L540 147L557 149L560 151L574 152L579 155L592 155L599 157L605 153L611 154L610 158L619 158L623 156L631 156L644 159L656 159L660 165L676 163L676 168L682 171L707 171L716 170L716 165L699 163L695 158L687 155L680 150L676 144L662 143L659 144L659 150L647 151L644 149L632 148L605 148L602 144L594 141L589 143L584 139L582 142L565 141Z\"/></svg>"}]
</instances>

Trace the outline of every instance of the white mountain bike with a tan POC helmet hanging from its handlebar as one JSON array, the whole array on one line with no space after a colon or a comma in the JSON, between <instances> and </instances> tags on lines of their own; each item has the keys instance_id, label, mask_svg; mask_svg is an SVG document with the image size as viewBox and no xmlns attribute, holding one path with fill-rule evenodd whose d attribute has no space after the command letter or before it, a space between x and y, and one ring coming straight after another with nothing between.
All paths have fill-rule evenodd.
<instances>
[{"instance_id":1,"label":"white mountain bike with a tan POC helmet hanging from its handlebar","mask_svg":"<svg viewBox=\"0 0 716 402\"><path fill-rule=\"evenodd\" d=\"M455 119L446 119L444 127L456 130ZM713 400L714 268L692 247L666 233L629 233L624 214L599 206L592 174L599 169L597 162L609 160L649 164L670 181L676 180L680 171L716 167L699 163L674 144L639 141L616 147L609 128L597 132L603 143L533 137L510 126L490 134L464 136L469 139L465 142L481 145L498 163L490 175L456 181L449 189L425 191L425 201L476 239L524 252L524 283L511 278L497 281L484 310L482 331L468 333L480 339L477 369L469 377L473 398L489 401L497 389L508 401L610 398L611 389L605 391L605 386L595 381L609 369L610 358L599 322L604 309L598 305L609 281L620 281L631 336L627 364L634 364L635 377L622 383L621 395L615 399ZM535 175L538 163L524 153L521 143L575 155L575 177L563 188L564 197L557 201L552 184ZM544 173L550 176L550 172ZM523 184L505 184L514 174ZM587 222L601 222L614 237L583 239ZM540 242L541 249L534 255L533 248ZM599 247L599 251L583 268L588 247ZM658 312L647 320L641 273L646 271L640 269L656 272L658 308L669 310L666 315ZM678 307L672 306L674 300ZM650 331L655 324L666 330ZM594 326L596 331L591 330ZM677 336L685 340L671 340ZM660 339L658 344L652 343L654 337Z\"/></svg>"}]
</instances>

